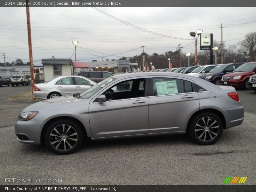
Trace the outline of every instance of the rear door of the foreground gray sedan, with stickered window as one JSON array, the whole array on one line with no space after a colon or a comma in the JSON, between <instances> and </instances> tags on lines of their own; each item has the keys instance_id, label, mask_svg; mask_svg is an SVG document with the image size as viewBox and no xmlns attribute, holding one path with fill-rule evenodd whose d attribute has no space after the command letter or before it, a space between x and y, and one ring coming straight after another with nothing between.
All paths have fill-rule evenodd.
<instances>
[{"instance_id":1,"label":"rear door of the foreground gray sedan, with stickered window","mask_svg":"<svg viewBox=\"0 0 256 192\"><path fill-rule=\"evenodd\" d=\"M186 78L152 76L149 92L149 133L185 132L188 118L199 109L194 82Z\"/></svg>"}]
</instances>

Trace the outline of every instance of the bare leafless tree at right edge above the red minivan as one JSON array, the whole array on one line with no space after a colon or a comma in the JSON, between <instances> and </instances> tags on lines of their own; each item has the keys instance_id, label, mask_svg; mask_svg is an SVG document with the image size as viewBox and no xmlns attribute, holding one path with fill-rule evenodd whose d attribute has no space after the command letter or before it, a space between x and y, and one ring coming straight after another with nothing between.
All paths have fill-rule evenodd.
<instances>
[{"instance_id":1,"label":"bare leafless tree at right edge above the red minivan","mask_svg":"<svg viewBox=\"0 0 256 192\"><path fill-rule=\"evenodd\" d=\"M238 44L240 44L241 48L247 52L250 56L250 60L254 61L256 56L256 32L246 34L245 39Z\"/></svg>"}]
</instances>

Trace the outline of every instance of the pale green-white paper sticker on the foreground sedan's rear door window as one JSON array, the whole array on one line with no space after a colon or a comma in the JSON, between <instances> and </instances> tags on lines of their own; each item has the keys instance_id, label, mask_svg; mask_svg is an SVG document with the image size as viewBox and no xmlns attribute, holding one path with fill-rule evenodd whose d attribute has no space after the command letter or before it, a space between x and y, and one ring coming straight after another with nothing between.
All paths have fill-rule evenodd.
<instances>
[{"instance_id":1,"label":"pale green-white paper sticker on the foreground sedan's rear door window","mask_svg":"<svg viewBox=\"0 0 256 192\"><path fill-rule=\"evenodd\" d=\"M176 94L178 92L176 81L156 82L157 95Z\"/></svg>"}]
</instances>

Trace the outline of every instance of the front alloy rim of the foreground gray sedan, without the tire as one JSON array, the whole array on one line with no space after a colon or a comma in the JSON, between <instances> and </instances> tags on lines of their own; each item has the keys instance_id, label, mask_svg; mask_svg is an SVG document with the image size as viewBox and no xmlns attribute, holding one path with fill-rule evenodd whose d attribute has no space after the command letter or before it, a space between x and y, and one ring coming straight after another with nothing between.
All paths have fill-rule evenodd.
<instances>
[{"instance_id":1,"label":"front alloy rim of the foreground gray sedan, without the tire","mask_svg":"<svg viewBox=\"0 0 256 192\"><path fill-rule=\"evenodd\" d=\"M52 129L50 142L53 148L59 151L68 151L77 143L76 130L67 124L61 124Z\"/></svg>"}]
</instances>

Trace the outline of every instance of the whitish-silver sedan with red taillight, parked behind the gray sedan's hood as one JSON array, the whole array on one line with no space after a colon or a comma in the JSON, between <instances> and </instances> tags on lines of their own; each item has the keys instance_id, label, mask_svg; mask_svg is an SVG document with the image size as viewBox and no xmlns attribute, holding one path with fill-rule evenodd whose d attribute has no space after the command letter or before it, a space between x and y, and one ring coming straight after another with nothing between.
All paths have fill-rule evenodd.
<instances>
[{"instance_id":1,"label":"whitish-silver sedan with red taillight, parked behind the gray sedan's hood","mask_svg":"<svg viewBox=\"0 0 256 192\"><path fill-rule=\"evenodd\" d=\"M96 85L83 76L59 76L44 83L34 85L34 97L37 99L52 99L65 95L81 93Z\"/></svg>"}]
</instances>

